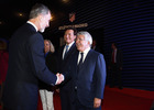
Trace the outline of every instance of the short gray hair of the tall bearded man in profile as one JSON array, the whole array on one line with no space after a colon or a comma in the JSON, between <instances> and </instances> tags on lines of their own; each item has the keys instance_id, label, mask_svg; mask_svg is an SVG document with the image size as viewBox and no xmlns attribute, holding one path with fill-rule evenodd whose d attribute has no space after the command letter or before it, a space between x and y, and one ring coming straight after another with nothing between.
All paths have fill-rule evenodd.
<instances>
[{"instance_id":1,"label":"short gray hair of the tall bearded man in profile","mask_svg":"<svg viewBox=\"0 0 154 110\"><path fill-rule=\"evenodd\" d=\"M51 12L51 10L46 6L42 3L36 3L34 7L32 7L29 19L34 19L40 14L45 15L48 14L48 12Z\"/></svg>"}]
</instances>

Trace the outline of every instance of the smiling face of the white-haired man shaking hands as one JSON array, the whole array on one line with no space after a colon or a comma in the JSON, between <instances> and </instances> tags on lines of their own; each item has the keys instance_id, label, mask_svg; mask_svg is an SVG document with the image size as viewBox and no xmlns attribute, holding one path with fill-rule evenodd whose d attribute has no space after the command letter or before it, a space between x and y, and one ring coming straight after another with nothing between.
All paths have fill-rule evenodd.
<instances>
[{"instance_id":1,"label":"smiling face of the white-haired man shaking hands","mask_svg":"<svg viewBox=\"0 0 154 110\"><path fill-rule=\"evenodd\" d=\"M86 48L90 47L90 43L85 40L84 35L78 35L76 38L76 46L78 51L84 52Z\"/></svg>"}]
</instances>

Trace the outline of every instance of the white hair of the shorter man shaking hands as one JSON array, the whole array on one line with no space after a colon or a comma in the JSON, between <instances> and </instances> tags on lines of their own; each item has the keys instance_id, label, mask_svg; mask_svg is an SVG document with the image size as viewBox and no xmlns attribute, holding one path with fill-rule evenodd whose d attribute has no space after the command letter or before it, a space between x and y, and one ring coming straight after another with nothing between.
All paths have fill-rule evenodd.
<instances>
[{"instance_id":1,"label":"white hair of the shorter man shaking hands","mask_svg":"<svg viewBox=\"0 0 154 110\"><path fill-rule=\"evenodd\" d=\"M92 44L92 36L90 35L89 32L87 32L87 31L80 31L80 32L77 33L77 36L78 35L84 35L85 36L85 40L88 41L90 43L90 46L91 46L91 44Z\"/></svg>"}]
</instances>

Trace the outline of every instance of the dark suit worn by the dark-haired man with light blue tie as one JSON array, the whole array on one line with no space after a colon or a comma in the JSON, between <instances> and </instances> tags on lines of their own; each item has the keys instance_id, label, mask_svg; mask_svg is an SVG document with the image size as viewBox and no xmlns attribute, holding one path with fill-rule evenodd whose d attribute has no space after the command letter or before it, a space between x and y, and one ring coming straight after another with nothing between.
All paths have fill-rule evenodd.
<instances>
[{"instance_id":1,"label":"dark suit worn by the dark-haired man with light blue tie","mask_svg":"<svg viewBox=\"0 0 154 110\"><path fill-rule=\"evenodd\" d=\"M69 73L69 63L72 59L73 54L75 53L76 50L76 44L74 43L72 45L72 47L69 48L69 51L67 52L67 54L65 55L65 58L63 59L63 51L64 51L64 46L62 46L59 48L58 52L58 70L59 73L64 74L64 75L68 75ZM70 82L70 78L68 80L63 81L59 85L59 95L61 95L61 103L62 103L62 110L70 110L72 108L72 103L70 103L70 88L72 88L72 82Z\"/></svg>"}]
</instances>

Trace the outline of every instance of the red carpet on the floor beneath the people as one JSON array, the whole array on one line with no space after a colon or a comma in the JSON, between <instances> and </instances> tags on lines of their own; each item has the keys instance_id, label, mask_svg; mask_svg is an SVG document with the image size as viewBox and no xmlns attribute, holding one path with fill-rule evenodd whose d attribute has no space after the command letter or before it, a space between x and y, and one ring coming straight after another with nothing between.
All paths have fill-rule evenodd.
<instances>
[{"instance_id":1,"label":"red carpet on the floor beneath the people","mask_svg":"<svg viewBox=\"0 0 154 110\"><path fill-rule=\"evenodd\" d=\"M150 110L153 100L154 91L106 87L102 110ZM55 110L61 110L58 94L54 95L54 106ZM41 101L37 110L42 110Z\"/></svg>"}]
</instances>

